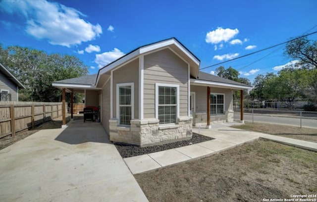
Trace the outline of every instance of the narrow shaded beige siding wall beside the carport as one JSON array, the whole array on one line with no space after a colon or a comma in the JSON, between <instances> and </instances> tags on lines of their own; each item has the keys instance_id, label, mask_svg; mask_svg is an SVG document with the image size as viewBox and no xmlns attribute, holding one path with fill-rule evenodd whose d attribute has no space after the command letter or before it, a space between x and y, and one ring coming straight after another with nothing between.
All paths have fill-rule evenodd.
<instances>
[{"instance_id":1,"label":"narrow shaded beige siding wall beside the carport","mask_svg":"<svg viewBox=\"0 0 317 202\"><path fill-rule=\"evenodd\" d=\"M107 134L109 134L110 119L110 80L106 83L102 90L102 125Z\"/></svg>"}]
</instances>

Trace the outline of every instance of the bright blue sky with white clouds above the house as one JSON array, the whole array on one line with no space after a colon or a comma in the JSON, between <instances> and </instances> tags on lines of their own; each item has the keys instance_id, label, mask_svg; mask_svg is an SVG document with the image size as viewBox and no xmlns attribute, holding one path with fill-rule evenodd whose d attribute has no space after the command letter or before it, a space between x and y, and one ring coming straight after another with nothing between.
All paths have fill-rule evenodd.
<instances>
[{"instance_id":1,"label":"bright blue sky with white clouds above the house","mask_svg":"<svg viewBox=\"0 0 317 202\"><path fill-rule=\"evenodd\" d=\"M75 55L93 74L139 46L175 37L203 68L317 31L316 10L316 0L1 0L0 43ZM253 81L294 63L283 49L223 66Z\"/></svg>"}]
</instances>

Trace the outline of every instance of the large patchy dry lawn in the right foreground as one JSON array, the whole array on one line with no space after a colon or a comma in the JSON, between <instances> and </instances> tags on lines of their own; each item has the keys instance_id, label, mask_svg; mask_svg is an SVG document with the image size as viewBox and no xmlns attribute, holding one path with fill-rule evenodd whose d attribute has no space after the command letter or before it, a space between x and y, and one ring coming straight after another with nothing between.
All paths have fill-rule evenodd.
<instances>
[{"instance_id":1,"label":"large patchy dry lawn in the right foreground","mask_svg":"<svg viewBox=\"0 0 317 202\"><path fill-rule=\"evenodd\" d=\"M150 202L262 202L317 193L317 152L258 140L135 175Z\"/></svg>"}]
</instances>

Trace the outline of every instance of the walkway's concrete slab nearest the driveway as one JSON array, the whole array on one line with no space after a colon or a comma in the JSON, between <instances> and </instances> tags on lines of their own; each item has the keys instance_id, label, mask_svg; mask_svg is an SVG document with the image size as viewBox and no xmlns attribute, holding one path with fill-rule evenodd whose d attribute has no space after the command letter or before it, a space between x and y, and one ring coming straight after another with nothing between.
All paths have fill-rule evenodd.
<instances>
[{"instance_id":1,"label":"walkway's concrete slab nearest the driveway","mask_svg":"<svg viewBox=\"0 0 317 202\"><path fill-rule=\"evenodd\" d=\"M160 168L161 166L148 154L133 156L123 159L130 168L132 174L142 173L145 171Z\"/></svg>"}]
</instances>

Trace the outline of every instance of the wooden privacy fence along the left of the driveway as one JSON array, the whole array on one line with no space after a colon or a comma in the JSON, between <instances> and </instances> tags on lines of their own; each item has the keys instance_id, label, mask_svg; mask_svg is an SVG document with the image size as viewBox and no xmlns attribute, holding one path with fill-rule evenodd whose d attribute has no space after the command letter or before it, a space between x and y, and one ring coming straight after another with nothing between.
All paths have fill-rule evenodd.
<instances>
[{"instance_id":1,"label":"wooden privacy fence along the left of the driveway","mask_svg":"<svg viewBox=\"0 0 317 202\"><path fill-rule=\"evenodd\" d=\"M67 108L67 107L66 107ZM0 138L62 115L62 102L0 101Z\"/></svg>"}]
</instances>

